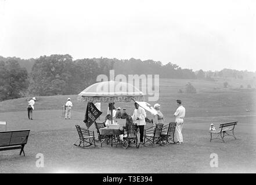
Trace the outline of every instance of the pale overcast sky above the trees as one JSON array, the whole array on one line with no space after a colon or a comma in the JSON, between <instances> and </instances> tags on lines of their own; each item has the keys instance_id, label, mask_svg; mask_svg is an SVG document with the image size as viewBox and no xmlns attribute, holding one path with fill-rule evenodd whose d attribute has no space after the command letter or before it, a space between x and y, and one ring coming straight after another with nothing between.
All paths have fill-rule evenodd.
<instances>
[{"instance_id":1,"label":"pale overcast sky above the trees","mask_svg":"<svg viewBox=\"0 0 256 185\"><path fill-rule=\"evenodd\" d=\"M256 1L0 0L0 56L140 58L256 71Z\"/></svg>"}]
</instances>

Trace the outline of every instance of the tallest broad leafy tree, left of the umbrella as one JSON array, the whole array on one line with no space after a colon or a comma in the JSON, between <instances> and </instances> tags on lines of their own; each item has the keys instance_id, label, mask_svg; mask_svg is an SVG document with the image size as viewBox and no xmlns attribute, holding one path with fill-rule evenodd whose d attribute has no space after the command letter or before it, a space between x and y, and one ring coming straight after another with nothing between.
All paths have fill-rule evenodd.
<instances>
[{"instance_id":1,"label":"tallest broad leafy tree, left of the umbrella","mask_svg":"<svg viewBox=\"0 0 256 185\"><path fill-rule=\"evenodd\" d=\"M38 95L71 94L72 57L51 55L39 57L32 68L30 92Z\"/></svg>"}]
</instances>

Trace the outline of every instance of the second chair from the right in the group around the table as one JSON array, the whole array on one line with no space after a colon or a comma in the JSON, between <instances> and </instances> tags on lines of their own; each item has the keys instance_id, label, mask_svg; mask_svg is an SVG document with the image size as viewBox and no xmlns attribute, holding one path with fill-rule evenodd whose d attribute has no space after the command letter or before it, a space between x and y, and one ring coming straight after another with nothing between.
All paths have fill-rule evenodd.
<instances>
[{"instance_id":1,"label":"second chair from the right in the group around the table","mask_svg":"<svg viewBox=\"0 0 256 185\"><path fill-rule=\"evenodd\" d=\"M156 126L145 129L143 145L145 145L145 143L150 143L153 146L155 144L160 144L161 131L163 126L164 126L163 123L159 123L159 124L156 124Z\"/></svg>"}]
</instances>

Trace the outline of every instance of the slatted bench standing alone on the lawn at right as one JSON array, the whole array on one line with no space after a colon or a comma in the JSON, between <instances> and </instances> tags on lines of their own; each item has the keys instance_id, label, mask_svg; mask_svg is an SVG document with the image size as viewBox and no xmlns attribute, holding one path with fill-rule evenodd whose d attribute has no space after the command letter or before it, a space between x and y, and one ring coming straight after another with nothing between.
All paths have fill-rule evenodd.
<instances>
[{"instance_id":1,"label":"slatted bench standing alone on the lawn at right","mask_svg":"<svg viewBox=\"0 0 256 185\"><path fill-rule=\"evenodd\" d=\"M237 124L237 121L220 124L219 129L217 129L215 131L210 131L210 134L211 134L210 142L212 139L221 139L223 142L225 142L223 138L228 135L233 136L236 139L235 134L234 134L234 129L235 129L236 124ZM212 138L212 134L218 134L218 136L216 138ZM219 138L219 136L221 136L221 138Z\"/></svg>"}]
</instances>

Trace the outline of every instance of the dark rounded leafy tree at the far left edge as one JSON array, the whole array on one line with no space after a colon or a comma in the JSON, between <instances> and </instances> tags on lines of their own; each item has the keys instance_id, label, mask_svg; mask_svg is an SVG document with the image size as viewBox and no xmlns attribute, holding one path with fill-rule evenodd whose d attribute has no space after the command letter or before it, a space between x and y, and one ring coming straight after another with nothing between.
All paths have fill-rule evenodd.
<instances>
[{"instance_id":1,"label":"dark rounded leafy tree at the far left edge","mask_svg":"<svg viewBox=\"0 0 256 185\"><path fill-rule=\"evenodd\" d=\"M0 61L0 100L23 97L27 88L27 70L13 58Z\"/></svg>"}]
</instances>

